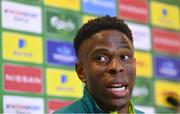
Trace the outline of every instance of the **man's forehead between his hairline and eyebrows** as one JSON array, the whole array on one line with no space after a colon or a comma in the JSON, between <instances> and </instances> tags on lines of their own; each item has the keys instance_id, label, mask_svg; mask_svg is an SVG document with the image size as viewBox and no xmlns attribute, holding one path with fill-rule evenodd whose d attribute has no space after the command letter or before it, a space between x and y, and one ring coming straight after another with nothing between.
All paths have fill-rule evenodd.
<instances>
[{"instance_id":1,"label":"man's forehead between his hairline and eyebrows","mask_svg":"<svg viewBox=\"0 0 180 114\"><path fill-rule=\"evenodd\" d=\"M103 30L85 40L79 50L79 56L90 53L96 48L116 49L119 47L128 47L133 50L133 44L128 37L117 30Z\"/></svg>"}]
</instances>

